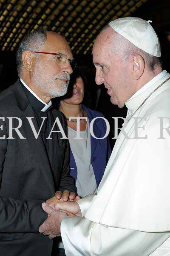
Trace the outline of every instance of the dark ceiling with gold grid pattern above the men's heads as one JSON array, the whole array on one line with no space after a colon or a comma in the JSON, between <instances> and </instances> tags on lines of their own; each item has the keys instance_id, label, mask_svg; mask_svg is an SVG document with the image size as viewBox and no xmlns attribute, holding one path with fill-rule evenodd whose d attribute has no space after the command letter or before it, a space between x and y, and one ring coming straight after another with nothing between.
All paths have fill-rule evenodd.
<instances>
[{"instance_id":1,"label":"dark ceiling with gold grid pattern above the men's heads","mask_svg":"<svg viewBox=\"0 0 170 256\"><path fill-rule=\"evenodd\" d=\"M133 16L147 0L0 0L0 50L14 51L23 36L43 28L64 35L73 53L88 54L110 20Z\"/></svg>"}]
</instances>

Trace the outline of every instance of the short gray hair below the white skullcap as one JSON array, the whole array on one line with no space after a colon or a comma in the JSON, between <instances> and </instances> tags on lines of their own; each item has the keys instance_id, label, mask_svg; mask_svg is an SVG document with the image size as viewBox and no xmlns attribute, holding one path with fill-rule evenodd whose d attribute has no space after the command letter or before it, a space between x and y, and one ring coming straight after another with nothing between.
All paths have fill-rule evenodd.
<instances>
[{"instance_id":1,"label":"short gray hair below the white skullcap","mask_svg":"<svg viewBox=\"0 0 170 256\"><path fill-rule=\"evenodd\" d=\"M109 25L106 25L101 32L105 29L110 28ZM143 57L147 67L150 71L154 71L156 67L162 66L161 58L153 56L147 52L144 52L142 49L139 49L134 44L132 44L129 40L124 38L122 35L117 33L113 29L113 41L111 42L113 53L115 55L121 56L122 60L127 61L131 54L139 54Z\"/></svg>"}]
</instances>

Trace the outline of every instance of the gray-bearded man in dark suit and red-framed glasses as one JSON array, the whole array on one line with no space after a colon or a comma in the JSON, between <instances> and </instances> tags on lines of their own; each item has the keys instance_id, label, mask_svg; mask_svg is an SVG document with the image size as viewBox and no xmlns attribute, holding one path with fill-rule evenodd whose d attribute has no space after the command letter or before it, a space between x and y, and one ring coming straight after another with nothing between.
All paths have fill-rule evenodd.
<instances>
[{"instance_id":1,"label":"gray-bearded man in dark suit and red-framed glasses","mask_svg":"<svg viewBox=\"0 0 170 256\"><path fill-rule=\"evenodd\" d=\"M75 198L68 141L62 140L61 127L55 122L58 119L64 129L64 118L51 105L52 98L67 92L72 62L65 38L54 32L33 31L17 51L19 79L0 94L3 256L51 255L53 240L39 233L39 226L48 218L49 230L59 235L53 223L59 227L66 214L58 211L49 216L41 204L46 201L53 206Z\"/></svg>"}]
</instances>

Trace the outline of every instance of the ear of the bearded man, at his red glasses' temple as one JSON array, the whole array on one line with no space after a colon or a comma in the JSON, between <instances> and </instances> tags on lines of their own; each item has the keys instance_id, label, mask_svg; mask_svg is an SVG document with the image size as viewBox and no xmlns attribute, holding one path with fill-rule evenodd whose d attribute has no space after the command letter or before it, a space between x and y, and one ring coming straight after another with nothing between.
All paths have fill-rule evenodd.
<instances>
[{"instance_id":1,"label":"ear of the bearded man, at his red glasses' temple","mask_svg":"<svg viewBox=\"0 0 170 256\"><path fill-rule=\"evenodd\" d=\"M22 60L23 60L23 66L25 69L30 72L34 69L35 65L35 55L30 51L23 52Z\"/></svg>"}]
</instances>

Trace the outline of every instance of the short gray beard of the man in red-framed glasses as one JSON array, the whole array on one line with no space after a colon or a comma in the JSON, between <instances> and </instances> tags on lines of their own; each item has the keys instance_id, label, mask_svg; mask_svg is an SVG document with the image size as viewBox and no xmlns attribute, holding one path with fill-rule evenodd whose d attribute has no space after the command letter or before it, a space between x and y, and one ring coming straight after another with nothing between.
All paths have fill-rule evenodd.
<instances>
[{"instance_id":1,"label":"short gray beard of the man in red-framed glasses","mask_svg":"<svg viewBox=\"0 0 170 256\"><path fill-rule=\"evenodd\" d=\"M43 76L44 76L44 74L43 74ZM45 80L48 81L48 82L46 82L45 84L44 83L42 84L42 81L41 81L40 78L43 77L43 76L42 76L42 74L40 74L38 72L34 73L34 81L38 86L43 88L45 92L47 92L48 96L50 96L51 98L56 98L56 97L63 96L67 93L68 84L70 82L70 75L69 74L61 74L61 75L54 76L53 81L52 81L52 84L53 84L52 88L50 87L51 82L48 81L48 74L46 74L44 76L44 77L46 77ZM68 82L65 84L64 82L59 80L60 85L59 85L59 88L58 88L55 84L56 79L67 79Z\"/></svg>"}]
</instances>

